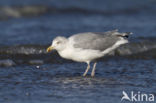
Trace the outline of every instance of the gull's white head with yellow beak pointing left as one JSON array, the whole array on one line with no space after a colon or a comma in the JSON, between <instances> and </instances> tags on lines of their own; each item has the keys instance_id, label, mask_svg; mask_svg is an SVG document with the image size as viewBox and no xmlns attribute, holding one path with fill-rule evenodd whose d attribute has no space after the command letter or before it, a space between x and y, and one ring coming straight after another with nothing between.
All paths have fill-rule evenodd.
<instances>
[{"instance_id":1,"label":"gull's white head with yellow beak pointing left","mask_svg":"<svg viewBox=\"0 0 156 103\"><path fill-rule=\"evenodd\" d=\"M62 51L66 48L66 43L68 39L63 36L56 37L53 41L51 46L47 48L47 52L50 52L52 50Z\"/></svg>"}]
</instances>

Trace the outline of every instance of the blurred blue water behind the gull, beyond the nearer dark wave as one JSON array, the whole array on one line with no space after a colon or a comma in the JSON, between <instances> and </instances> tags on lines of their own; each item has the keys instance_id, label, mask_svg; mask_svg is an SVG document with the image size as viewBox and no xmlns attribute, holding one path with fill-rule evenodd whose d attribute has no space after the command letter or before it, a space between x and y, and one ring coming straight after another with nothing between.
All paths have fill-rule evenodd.
<instances>
[{"instance_id":1,"label":"blurred blue water behind the gull, beyond the nearer dark wave","mask_svg":"<svg viewBox=\"0 0 156 103\"><path fill-rule=\"evenodd\" d=\"M118 3L114 3L113 0L98 2L69 0L68 3L64 0L44 2L6 0L0 1L0 4L14 6L42 4L56 10L37 17L0 21L0 45L49 44L58 35L70 36L79 32L105 32L113 29L133 32L134 38L156 36L154 0L121 0ZM66 10L62 11L64 9Z\"/></svg>"}]
</instances>

